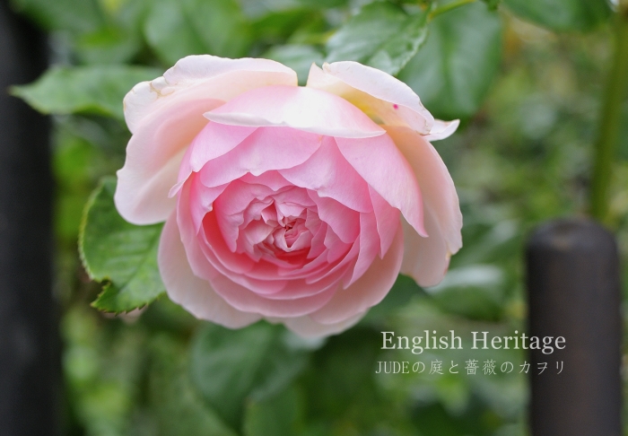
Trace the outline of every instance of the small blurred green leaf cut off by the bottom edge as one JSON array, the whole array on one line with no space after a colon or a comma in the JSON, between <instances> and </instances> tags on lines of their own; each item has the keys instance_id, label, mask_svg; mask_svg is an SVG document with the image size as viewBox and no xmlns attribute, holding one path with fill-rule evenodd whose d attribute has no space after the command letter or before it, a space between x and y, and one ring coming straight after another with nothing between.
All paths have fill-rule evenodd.
<instances>
[{"instance_id":1,"label":"small blurred green leaf cut off by the bottom edge","mask_svg":"<svg viewBox=\"0 0 628 436\"><path fill-rule=\"evenodd\" d=\"M302 398L289 387L274 397L253 400L244 415L245 436L292 436L302 434Z\"/></svg>"}]
</instances>

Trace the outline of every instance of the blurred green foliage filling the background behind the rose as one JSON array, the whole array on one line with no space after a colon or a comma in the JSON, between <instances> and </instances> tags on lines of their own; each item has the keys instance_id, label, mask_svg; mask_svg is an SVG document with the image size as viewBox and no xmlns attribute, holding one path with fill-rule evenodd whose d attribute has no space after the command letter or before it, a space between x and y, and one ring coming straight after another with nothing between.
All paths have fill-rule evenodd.
<instances>
[{"instance_id":1,"label":"blurred green foliage filling the background behind the rose","mask_svg":"<svg viewBox=\"0 0 628 436\"><path fill-rule=\"evenodd\" d=\"M54 66L13 92L55 117L68 435L527 434L519 373L526 356L469 350L469 332L525 329L525 237L538 222L584 210L611 9L586 0L488 0L434 14L458 3L13 0L51 32ZM263 322L226 330L165 297L118 316L89 308L102 291L81 266L78 232L90 192L124 161L130 134L121 100L136 82L195 53L273 58L294 68L301 84L312 62L359 60L398 73L435 115L462 118L458 134L436 144L465 221L465 246L446 279L422 290L399 276L358 326L325 341ZM624 119L611 213L626 253L628 101ZM113 183L105 179L92 196L82 249L89 273L109 286L96 305L118 312L161 292L155 285L142 295L142 280L155 277L150 268L136 274L153 262L159 229L120 221ZM91 214L115 231L105 234ZM124 268L109 263L113 250L124 254ZM455 330L467 347L418 355L381 349L381 331L423 330ZM515 370L467 375L470 359L480 368L512 362ZM375 373L392 361L423 362L427 370ZM432 361L443 363L442 375L429 373ZM458 374L449 373L451 364Z\"/></svg>"}]
</instances>

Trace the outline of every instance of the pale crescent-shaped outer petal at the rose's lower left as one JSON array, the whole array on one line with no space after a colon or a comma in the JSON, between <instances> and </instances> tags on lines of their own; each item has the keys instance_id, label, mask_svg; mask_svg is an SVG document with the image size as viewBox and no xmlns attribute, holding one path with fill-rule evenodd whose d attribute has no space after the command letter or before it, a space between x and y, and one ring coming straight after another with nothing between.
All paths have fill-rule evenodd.
<instances>
[{"instance_id":1,"label":"pale crescent-shaped outer petal at the rose's lower left","mask_svg":"<svg viewBox=\"0 0 628 436\"><path fill-rule=\"evenodd\" d=\"M161 232L158 260L161 279L170 300L183 306L196 318L230 328L245 327L261 318L256 313L234 309L214 292L208 282L192 273L181 243L176 214L170 215Z\"/></svg>"}]
</instances>

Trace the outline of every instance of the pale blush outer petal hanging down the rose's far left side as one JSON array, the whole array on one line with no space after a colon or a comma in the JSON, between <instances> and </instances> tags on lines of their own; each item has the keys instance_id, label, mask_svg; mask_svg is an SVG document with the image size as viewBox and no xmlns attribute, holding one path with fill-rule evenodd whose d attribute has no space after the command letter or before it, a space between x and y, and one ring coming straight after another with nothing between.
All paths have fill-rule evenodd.
<instances>
[{"instance_id":1,"label":"pale blush outer petal hanging down the rose's far left side","mask_svg":"<svg viewBox=\"0 0 628 436\"><path fill-rule=\"evenodd\" d=\"M126 221L153 224L170 216L176 200L169 193L177 183L181 159L207 124L203 111L220 104L220 100L198 100L175 105L137 127L126 145L114 197Z\"/></svg>"}]
</instances>

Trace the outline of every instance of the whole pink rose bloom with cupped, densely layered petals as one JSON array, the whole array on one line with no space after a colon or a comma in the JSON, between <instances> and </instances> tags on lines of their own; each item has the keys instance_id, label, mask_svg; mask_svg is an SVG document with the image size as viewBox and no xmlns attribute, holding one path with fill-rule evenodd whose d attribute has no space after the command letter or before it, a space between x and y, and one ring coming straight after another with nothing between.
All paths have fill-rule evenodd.
<instances>
[{"instance_id":1,"label":"whole pink rose bloom with cupped, densely layered petals","mask_svg":"<svg viewBox=\"0 0 628 436\"><path fill-rule=\"evenodd\" d=\"M435 120L389 74L312 65L300 87L275 61L191 56L124 102L118 211L165 221L161 277L197 318L338 333L399 272L439 283L462 245L458 196L429 142L458 120Z\"/></svg>"}]
</instances>

